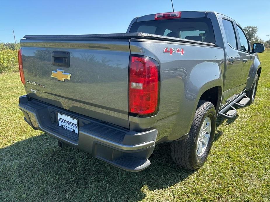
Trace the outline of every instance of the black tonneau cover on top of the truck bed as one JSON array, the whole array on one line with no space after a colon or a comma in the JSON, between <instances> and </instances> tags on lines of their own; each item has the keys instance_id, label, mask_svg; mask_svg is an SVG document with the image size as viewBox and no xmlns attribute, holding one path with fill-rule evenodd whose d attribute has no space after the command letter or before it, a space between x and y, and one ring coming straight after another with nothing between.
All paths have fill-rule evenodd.
<instances>
[{"instance_id":1,"label":"black tonneau cover on top of the truck bed","mask_svg":"<svg viewBox=\"0 0 270 202\"><path fill-rule=\"evenodd\" d=\"M142 32L116 33L116 34L82 34L82 35L25 35L23 38L25 39L130 39L130 38L138 38L138 39L152 39L152 40L184 42L184 43L216 46L214 43L161 36L161 35L142 33Z\"/></svg>"}]
</instances>

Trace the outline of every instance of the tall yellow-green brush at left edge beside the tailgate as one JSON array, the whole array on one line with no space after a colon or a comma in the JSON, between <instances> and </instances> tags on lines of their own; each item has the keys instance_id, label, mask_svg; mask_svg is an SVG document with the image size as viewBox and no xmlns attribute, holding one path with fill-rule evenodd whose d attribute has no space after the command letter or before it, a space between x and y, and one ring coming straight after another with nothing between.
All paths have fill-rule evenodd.
<instances>
[{"instance_id":1,"label":"tall yellow-green brush at left edge beside the tailgate","mask_svg":"<svg viewBox=\"0 0 270 202\"><path fill-rule=\"evenodd\" d=\"M18 71L18 50L0 49L0 73Z\"/></svg>"}]
</instances>

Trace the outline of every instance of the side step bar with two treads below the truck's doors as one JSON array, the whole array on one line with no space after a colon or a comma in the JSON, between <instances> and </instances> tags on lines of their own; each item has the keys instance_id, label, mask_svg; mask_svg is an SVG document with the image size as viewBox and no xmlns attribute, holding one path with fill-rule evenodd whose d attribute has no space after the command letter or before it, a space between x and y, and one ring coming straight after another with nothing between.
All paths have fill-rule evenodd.
<instances>
[{"instance_id":1,"label":"side step bar with two treads below the truck's doors","mask_svg":"<svg viewBox=\"0 0 270 202\"><path fill-rule=\"evenodd\" d=\"M240 102L238 102L239 100ZM237 114L237 111L233 107L233 105L237 107L245 107L245 105L248 104L249 100L250 99L248 98L248 96L246 96L246 93L243 93L234 101L232 101L230 104L228 104L226 107L221 109L218 112L218 116L223 116L224 118L233 118Z\"/></svg>"}]
</instances>

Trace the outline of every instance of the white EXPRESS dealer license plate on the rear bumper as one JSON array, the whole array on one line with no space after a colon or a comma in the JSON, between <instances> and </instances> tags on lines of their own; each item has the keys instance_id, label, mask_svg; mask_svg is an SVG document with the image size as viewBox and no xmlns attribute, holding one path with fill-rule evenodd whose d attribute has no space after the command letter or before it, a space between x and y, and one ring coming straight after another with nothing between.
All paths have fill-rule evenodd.
<instances>
[{"instance_id":1,"label":"white EXPRESS dealer license plate on the rear bumper","mask_svg":"<svg viewBox=\"0 0 270 202\"><path fill-rule=\"evenodd\" d=\"M58 125L66 130L75 132L78 134L78 119L72 118L69 115L57 113L58 114Z\"/></svg>"}]
</instances>

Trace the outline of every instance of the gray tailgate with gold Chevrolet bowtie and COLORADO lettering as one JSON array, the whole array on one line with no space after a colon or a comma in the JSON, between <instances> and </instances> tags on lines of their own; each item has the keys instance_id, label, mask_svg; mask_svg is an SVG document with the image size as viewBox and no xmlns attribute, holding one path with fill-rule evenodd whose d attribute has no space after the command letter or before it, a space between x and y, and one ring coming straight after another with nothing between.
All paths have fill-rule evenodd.
<instances>
[{"instance_id":1,"label":"gray tailgate with gold Chevrolet bowtie and COLORADO lettering","mask_svg":"<svg viewBox=\"0 0 270 202\"><path fill-rule=\"evenodd\" d=\"M129 128L128 39L23 39L21 46L31 98ZM70 66L53 65L53 52L69 53ZM69 80L58 80L62 73Z\"/></svg>"}]
</instances>

